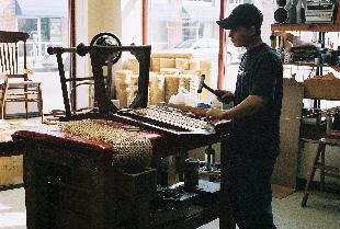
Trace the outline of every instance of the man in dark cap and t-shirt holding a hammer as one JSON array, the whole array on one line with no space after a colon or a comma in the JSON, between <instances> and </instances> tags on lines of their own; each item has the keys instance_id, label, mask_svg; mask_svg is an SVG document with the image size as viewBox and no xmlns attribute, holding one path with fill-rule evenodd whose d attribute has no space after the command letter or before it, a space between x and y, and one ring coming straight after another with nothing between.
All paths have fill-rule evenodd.
<instances>
[{"instance_id":1,"label":"man in dark cap and t-shirt holding a hammer","mask_svg":"<svg viewBox=\"0 0 340 229\"><path fill-rule=\"evenodd\" d=\"M231 119L228 144L228 194L240 229L275 229L270 179L280 153L282 64L261 39L263 15L253 4L240 4L217 21L236 47L245 46L235 94L222 93L230 110L212 108L208 118Z\"/></svg>"}]
</instances>

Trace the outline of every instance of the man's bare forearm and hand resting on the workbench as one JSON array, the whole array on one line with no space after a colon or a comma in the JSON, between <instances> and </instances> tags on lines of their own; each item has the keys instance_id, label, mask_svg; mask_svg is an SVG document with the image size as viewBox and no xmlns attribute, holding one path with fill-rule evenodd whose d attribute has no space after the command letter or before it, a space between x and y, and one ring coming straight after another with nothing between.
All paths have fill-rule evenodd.
<instances>
[{"instance_id":1,"label":"man's bare forearm and hand resting on the workbench","mask_svg":"<svg viewBox=\"0 0 340 229\"><path fill-rule=\"evenodd\" d=\"M268 99L259 95L249 95L240 104L230 108L230 110L218 110L211 108L207 111L206 116L208 118L218 118L218 119L233 119L235 117L245 117L252 115L263 110L267 105Z\"/></svg>"}]
</instances>

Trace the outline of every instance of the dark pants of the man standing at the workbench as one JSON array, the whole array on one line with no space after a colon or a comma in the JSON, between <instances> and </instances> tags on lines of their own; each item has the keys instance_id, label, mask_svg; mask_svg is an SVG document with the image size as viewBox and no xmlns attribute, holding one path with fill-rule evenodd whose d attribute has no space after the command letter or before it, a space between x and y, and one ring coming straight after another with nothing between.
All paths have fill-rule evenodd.
<instances>
[{"instance_id":1,"label":"dark pants of the man standing at the workbench","mask_svg":"<svg viewBox=\"0 0 340 229\"><path fill-rule=\"evenodd\" d=\"M240 229L275 229L270 179L274 160L231 159L228 163L228 194Z\"/></svg>"}]
</instances>

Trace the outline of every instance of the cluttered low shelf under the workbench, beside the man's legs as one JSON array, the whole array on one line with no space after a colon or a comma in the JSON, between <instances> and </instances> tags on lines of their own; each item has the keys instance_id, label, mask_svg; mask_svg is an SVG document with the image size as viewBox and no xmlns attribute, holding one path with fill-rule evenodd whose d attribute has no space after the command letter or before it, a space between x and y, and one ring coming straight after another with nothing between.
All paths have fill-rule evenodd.
<instances>
[{"instance_id":1,"label":"cluttered low shelf under the workbench, beside the man's legs","mask_svg":"<svg viewBox=\"0 0 340 229\"><path fill-rule=\"evenodd\" d=\"M175 186L182 191L182 184ZM180 199L158 203L162 210L151 210L151 229L195 229L219 216L220 184L200 180L199 187L185 191ZM155 202L157 206L157 202ZM151 203L152 206L152 203ZM155 206L155 205L154 205ZM152 209L152 207L151 207Z\"/></svg>"}]
</instances>

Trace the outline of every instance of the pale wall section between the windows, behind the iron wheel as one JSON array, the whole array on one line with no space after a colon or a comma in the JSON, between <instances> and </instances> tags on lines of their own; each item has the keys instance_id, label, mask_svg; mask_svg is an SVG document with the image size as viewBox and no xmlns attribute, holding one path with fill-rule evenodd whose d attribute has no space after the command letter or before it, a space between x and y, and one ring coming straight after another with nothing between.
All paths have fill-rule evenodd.
<instances>
[{"instance_id":1,"label":"pale wall section between the windows, behind the iron wheel","mask_svg":"<svg viewBox=\"0 0 340 229\"><path fill-rule=\"evenodd\" d=\"M124 18L124 22L122 20ZM89 45L101 32L114 33L123 45L141 44L141 7L136 0L77 0L76 44ZM125 55L124 55L125 56ZM121 61L114 65L121 68ZM113 70L114 71L114 70ZM92 76L89 57L77 58L78 76ZM88 87L77 89L77 107L89 105Z\"/></svg>"}]
</instances>

